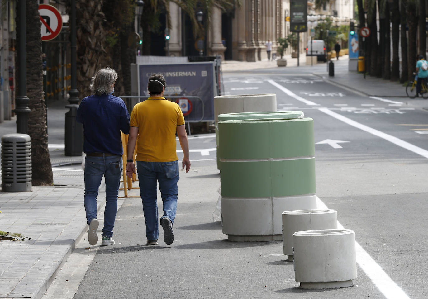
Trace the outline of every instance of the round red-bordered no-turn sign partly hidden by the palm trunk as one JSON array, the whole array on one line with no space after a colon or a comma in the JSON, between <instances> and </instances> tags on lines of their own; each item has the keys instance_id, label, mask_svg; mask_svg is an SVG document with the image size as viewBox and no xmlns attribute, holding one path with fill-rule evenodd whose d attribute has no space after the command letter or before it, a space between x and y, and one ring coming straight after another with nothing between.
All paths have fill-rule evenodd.
<instances>
[{"instance_id":1,"label":"round red-bordered no-turn sign partly hidden by the palm trunk","mask_svg":"<svg viewBox=\"0 0 428 299\"><path fill-rule=\"evenodd\" d=\"M62 29L62 18L58 9L49 4L40 4L39 15L42 22L42 41L56 38Z\"/></svg>"}]
</instances>

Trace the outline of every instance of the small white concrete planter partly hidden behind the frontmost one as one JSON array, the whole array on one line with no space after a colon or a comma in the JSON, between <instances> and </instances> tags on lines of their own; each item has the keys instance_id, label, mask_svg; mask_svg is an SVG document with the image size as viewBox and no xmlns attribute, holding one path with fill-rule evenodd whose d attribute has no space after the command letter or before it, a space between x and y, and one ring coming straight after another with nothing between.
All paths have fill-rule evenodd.
<instances>
[{"instance_id":1,"label":"small white concrete planter partly hidden behind the frontmost one","mask_svg":"<svg viewBox=\"0 0 428 299\"><path fill-rule=\"evenodd\" d=\"M282 246L288 261L293 261L293 234L316 229L337 229L336 210L294 210L282 213Z\"/></svg>"}]
</instances>

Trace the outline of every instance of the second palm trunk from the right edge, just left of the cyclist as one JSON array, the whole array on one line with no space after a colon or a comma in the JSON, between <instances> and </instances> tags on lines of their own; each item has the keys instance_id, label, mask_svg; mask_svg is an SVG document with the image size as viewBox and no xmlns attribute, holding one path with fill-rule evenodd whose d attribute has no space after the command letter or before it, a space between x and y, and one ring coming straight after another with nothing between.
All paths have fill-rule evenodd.
<instances>
[{"instance_id":1,"label":"second palm trunk from the right edge, just left of the cyclist","mask_svg":"<svg viewBox=\"0 0 428 299\"><path fill-rule=\"evenodd\" d=\"M407 1L407 24L409 26L409 52L407 56L407 70L408 80L412 80L413 72L416 68L416 31L417 31L417 16L416 16L416 4L414 0Z\"/></svg>"}]
</instances>

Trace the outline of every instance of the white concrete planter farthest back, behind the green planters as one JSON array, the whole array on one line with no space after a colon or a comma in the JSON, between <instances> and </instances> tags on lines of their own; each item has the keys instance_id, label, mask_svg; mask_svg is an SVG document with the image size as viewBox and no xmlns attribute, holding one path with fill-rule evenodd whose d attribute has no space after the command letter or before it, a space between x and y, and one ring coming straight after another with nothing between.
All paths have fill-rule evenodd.
<instances>
[{"instance_id":1,"label":"white concrete planter farthest back, behind the green planters","mask_svg":"<svg viewBox=\"0 0 428 299\"><path fill-rule=\"evenodd\" d=\"M276 111L276 94L218 95L214 97L214 115L223 113Z\"/></svg>"}]
</instances>

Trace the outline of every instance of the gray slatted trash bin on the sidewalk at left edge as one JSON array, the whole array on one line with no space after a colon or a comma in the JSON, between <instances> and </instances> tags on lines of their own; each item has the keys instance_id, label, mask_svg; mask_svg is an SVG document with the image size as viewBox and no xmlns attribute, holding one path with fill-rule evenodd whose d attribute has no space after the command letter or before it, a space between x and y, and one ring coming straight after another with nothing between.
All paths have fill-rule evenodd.
<instances>
[{"instance_id":1,"label":"gray slatted trash bin on the sidewalk at left edge","mask_svg":"<svg viewBox=\"0 0 428 299\"><path fill-rule=\"evenodd\" d=\"M6 134L1 138L3 192L31 191L31 142L27 134Z\"/></svg>"}]
</instances>

